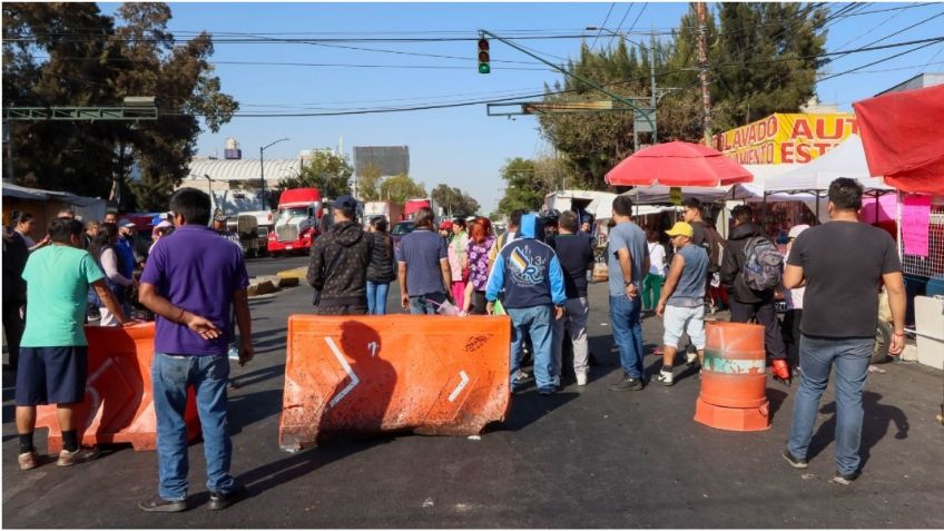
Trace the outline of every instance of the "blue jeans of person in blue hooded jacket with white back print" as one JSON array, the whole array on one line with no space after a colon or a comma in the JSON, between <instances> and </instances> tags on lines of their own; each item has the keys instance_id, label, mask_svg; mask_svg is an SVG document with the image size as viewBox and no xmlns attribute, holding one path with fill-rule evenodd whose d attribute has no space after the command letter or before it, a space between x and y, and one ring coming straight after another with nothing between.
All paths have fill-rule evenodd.
<instances>
[{"instance_id":1,"label":"blue jeans of person in blue hooded jacket with white back print","mask_svg":"<svg viewBox=\"0 0 944 531\"><path fill-rule=\"evenodd\" d=\"M554 389L560 377L553 374L553 306L505 308L511 317L511 382L521 368L524 337L531 337L534 351L534 380L538 389Z\"/></svg>"}]
</instances>

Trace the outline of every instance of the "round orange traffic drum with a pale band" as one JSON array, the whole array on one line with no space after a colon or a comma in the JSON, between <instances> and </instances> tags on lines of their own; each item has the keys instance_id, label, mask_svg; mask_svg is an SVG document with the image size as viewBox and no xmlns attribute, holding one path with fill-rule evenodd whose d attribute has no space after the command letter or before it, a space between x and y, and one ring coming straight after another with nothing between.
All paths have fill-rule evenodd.
<instances>
[{"instance_id":1,"label":"round orange traffic drum with a pale band","mask_svg":"<svg viewBox=\"0 0 944 531\"><path fill-rule=\"evenodd\" d=\"M764 327L706 323L705 366L695 420L720 430L770 427Z\"/></svg>"}]
</instances>

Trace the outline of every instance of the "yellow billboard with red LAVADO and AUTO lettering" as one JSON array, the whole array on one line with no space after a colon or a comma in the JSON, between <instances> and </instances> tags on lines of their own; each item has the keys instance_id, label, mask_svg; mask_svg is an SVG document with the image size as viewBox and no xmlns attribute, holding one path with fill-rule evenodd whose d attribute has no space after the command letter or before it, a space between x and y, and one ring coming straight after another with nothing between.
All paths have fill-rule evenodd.
<instances>
[{"instance_id":1,"label":"yellow billboard with red LAVADO and AUTO lettering","mask_svg":"<svg viewBox=\"0 0 944 531\"><path fill-rule=\"evenodd\" d=\"M777 112L715 135L714 147L738 164L805 164L858 134L852 112Z\"/></svg>"}]
</instances>

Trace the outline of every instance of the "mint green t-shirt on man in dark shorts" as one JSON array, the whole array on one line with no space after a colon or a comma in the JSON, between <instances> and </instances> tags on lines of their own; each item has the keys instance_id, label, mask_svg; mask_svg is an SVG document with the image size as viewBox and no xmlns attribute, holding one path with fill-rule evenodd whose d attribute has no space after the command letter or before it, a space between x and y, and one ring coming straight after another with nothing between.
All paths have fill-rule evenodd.
<instances>
[{"instance_id":1,"label":"mint green t-shirt on man in dark shorts","mask_svg":"<svg viewBox=\"0 0 944 531\"><path fill-rule=\"evenodd\" d=\"M89 284L105 274L87 252L50 245L33 252L23 269L27 330L20 346L86 346Z\"/></svg>"}]
</instances>

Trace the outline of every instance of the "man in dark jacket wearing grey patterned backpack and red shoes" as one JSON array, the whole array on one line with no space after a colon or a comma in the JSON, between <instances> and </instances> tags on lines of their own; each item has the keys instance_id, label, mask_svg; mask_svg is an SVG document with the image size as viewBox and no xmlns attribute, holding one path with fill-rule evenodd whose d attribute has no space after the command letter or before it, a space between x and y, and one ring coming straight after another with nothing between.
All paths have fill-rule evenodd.
<instances>
[{"instance_id":1,"label":"man in dark jacket wearing grey patterned backpack and red shoes","mask_svg":"<svg viewBox=\"0 0 944 531\"><path fill-rule=\"evenodd\" d=\"M751 220L753 216L754 212L747 205L731 210L735 227L721 265L721 285L728 291L731 323L747 323L756 318L764 325L764 346L771 358L774 378L789 385L787 350L774 308L774 289L783 279L784 257Z\"/></svg>"}]
</instances>

